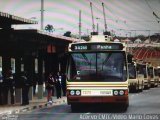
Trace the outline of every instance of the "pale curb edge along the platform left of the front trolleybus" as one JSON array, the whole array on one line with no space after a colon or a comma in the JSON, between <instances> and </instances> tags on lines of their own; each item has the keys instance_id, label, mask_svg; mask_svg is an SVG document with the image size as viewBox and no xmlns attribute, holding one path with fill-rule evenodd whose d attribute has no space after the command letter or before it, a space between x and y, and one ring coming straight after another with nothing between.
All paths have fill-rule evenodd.
<instances>
[{"instance_id":1,"label":"pale curb edge along the platform left of the front trolleybus","mask_svg":"<svg viewBox=\"0 0 160 120\"><path fill-rule=\"evenodd\" d=\"M43 103L43 104L39 104L39 105L26 106L24 108L15 109L15 110L12 110L12 111L7 111L7 112L4 112L4 113L0 113L0 117L3 116L3 115L8 115L8 114L19 114L19 113L23 113L23 112L27 112L27 111L31 111L31 110L42 109L42 108L45 108L45 107L51 107L51 106L54 106L54 105L57 105L57 104L58 105L63 104L63 103L66 103L66 102L67 102L67 100L58 100L58 101L53 102L52 104Z\"/></svg>"}]
</instances>

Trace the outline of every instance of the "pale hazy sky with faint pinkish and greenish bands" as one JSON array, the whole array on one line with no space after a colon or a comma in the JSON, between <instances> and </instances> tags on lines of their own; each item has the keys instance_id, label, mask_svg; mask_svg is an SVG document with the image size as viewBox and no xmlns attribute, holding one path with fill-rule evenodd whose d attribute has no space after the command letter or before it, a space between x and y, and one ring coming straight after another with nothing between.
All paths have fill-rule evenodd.
<instances>
[{"instance_id":1,"label":"pale hazy sky with faint pinkish and greenish bands","mask_svg":"<svg viewBox=\"0 0 160 120\"><path fill-rule=\"evenodd\" d=\"M66 31L79 32L81 10L82 35L92 30L92 2L95 28L104 31L102 2L106 14L107 29L117 36L135 36L160 33L160 0L44 0L44 26L53 25L53 34ZM41 0L0 0L0 11L38 21L38 25L15 26L15 28L40 29ZM157 15L155 16L153 12ZM159 17L159 18L158 18Z\"/></svg>"}]
</instances>

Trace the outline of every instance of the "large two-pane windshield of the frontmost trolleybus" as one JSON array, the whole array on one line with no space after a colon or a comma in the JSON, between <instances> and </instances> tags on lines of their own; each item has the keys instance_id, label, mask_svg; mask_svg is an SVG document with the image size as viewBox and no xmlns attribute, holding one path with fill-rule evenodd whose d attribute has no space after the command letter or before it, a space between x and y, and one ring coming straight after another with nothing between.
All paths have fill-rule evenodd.
<instances>
[{"instance_id":1,"label":"large two-pane windshield of the frontmost trolleybus","mask_svg":"<svg viewBox=\"0 0 160 120\"><path fill-rule=\"evenodd\" d=\"M71 81L126 81L124 52L71 53L69 80Z\"/></svg>"}]
</instances>

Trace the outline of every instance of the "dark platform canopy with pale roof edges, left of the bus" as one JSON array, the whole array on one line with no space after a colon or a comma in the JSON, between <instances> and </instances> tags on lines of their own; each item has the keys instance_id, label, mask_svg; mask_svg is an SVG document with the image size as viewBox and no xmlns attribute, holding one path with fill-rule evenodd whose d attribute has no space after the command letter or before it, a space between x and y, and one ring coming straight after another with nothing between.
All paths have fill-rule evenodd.
<instances>
[{"instance_id":1,"label":"dark platform canopy with pale roof edges, left of the bus","mask_svg":"<svg viewBox=\"0 0 160 120\"><path fill-rule=\"evenodd\" d=\"M11 25L37 24L38 22L0 12L0 55L15 56L36 51L64 52L69 43L78 39L53 35L37 29L13 29ZM53 48L53 49L52 49Z\"/></svg>"}]
</instances>

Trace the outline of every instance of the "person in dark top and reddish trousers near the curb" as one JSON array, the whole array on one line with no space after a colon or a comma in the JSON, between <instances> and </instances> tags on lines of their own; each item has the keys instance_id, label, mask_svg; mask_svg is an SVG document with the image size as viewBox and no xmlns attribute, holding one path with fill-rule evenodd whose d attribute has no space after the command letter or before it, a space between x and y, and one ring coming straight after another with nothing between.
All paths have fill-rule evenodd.
<instances>
[{"instance_id":1,"label":"person in dark top and reddish trousers near the curb","mask_svg":"<svg viewBox=\"0 0 160 120\"><path fill-rule=\"evenodd\" d=\"M48 92L48 95L47 95L48 102L50 101L52 102L52 92L54 93L54 85L55 85L55 79L53 75L50 73L46 82L46 89Z\"/></svg>"}]
</instances>

